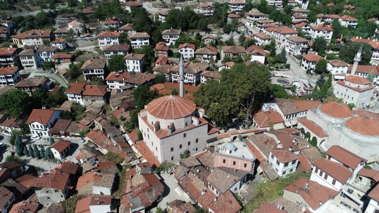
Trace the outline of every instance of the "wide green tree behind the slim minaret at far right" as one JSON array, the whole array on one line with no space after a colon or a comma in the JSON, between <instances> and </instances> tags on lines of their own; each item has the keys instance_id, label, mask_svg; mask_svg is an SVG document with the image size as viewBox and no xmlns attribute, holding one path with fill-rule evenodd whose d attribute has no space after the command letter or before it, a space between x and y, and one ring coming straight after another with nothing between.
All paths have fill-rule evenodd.
<instances>
[{"instance_id":1,"label":"wide green tree behind the slim minaret at far right","mask_svg":"<svg viewBox=\"0 0 379 213\"><path fill-rule=\"evenodd\" d=\"M361 43L357 42L347 42L344 44L340 50L339 56L341 60L345 61L346 63L352 64L354 63L354 57L356 56L356 53L361 47ZM361 55L361 62L360 64L369 64L372 56L372 50L371 45L368 43L363 44L362 49L362 55Z\"/></svg>"}]
</instances>

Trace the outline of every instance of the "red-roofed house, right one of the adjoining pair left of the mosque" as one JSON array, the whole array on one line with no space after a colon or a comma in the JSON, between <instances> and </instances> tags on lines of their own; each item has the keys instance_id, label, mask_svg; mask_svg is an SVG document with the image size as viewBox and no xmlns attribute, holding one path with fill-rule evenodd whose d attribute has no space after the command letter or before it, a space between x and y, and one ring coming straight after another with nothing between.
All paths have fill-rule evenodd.
<instances>
[{"instance_id":1,"label":"red-roofed house, right one of the adjoining pair left of the mosque","mask_svg":"<svg viewBox=\"0 0 379 213\"><path fill-rule=\"evenodd\" d=\"M85 85L81 97L83 106L91 106L96 103L102 105L107 102L107 85Z\"/></svg>"}]
</instances>

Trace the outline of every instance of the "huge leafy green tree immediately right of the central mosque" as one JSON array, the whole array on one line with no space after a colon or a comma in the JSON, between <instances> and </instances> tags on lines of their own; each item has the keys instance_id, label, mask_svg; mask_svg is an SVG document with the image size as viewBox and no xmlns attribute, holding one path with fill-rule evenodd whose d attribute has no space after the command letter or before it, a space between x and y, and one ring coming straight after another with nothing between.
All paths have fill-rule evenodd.
<instances>
[{"instance_id":1,"label":"huge leafy green tree immediately right of the central mosque","mask_svg":"<svg viewBox=\"0 0 379 213\"><path fill-rule=\"evenodd\" d=\"M221 71L221 81L207 81L194 93L195 103L216 124L227 128L234 119L247 127L270 91L270 73L258 64L236 64Z\"/></svg>"}]
</instances>

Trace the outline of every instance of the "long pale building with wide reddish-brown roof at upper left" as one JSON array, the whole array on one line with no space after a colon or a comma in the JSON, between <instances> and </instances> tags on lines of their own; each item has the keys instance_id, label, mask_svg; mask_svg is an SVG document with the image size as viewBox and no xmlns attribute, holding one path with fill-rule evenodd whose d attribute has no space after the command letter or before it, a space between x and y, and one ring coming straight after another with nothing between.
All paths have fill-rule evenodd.
<instances>
[{"instance_id":1,"label":"long pale building with wide reddish-brown roof at upper left","mask_svg":"<svg viewBox=\"0 0 379 213\"><path fill-rule=\"evenodd\" d=\"M53 34L51 30L29 30L11 37L18 48L24 48L24 46L50 45Z\"/></svg>"}]
</instances>

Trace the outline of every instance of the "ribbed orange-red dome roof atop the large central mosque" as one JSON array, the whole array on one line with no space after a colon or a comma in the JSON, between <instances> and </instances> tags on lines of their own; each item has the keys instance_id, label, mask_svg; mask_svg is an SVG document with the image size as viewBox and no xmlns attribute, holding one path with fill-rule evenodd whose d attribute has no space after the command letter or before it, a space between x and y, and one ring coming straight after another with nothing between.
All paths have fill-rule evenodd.
<instances>
[{"instance_id":1,"label":"ribbed orange-red dome roof atop the large central mosque","mask_svg":"<svg viewBox=\"0 0 379 213\"><path fill-rule=\"evenodd\" d=\"M196 104L180 96L163 96L151 101L146 110L159 119L179 119L194 113Z\"/></svg>"}]
</instances>

